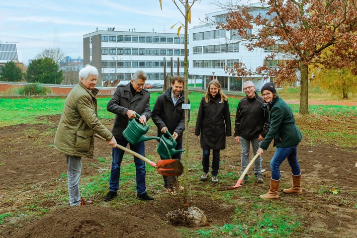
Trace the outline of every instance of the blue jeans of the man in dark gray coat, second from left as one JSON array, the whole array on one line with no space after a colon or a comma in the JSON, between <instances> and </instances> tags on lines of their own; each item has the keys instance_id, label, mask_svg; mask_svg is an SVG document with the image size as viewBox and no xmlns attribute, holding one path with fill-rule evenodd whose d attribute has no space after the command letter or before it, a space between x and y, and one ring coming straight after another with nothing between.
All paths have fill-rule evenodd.
<instances>
[{"instance_id":1,"label":"blue jeans of the man in dark gray coat, second from left","mask_svg":"<svg viewBox=\"0 0 357 238\"><path fill-rule=\"evenodd\" d=\"M127 140L117 139L117 143L126 147L128 144ZM145 156L145 143L140 142L136 145L130 145L130 149L138 154ZM112 162L112 172L110 174L109 180L109 190L113 192L117 192L119 189L119 178L120 178L120 164L123 160L124 150L119 148L113 148L113 162ZM146 185L145 185L145 162L140 160L140 158L134 156L134 163L136 168L136 192L138 195L143 194L146 192Z\"/></svg>"}]
</instances>

